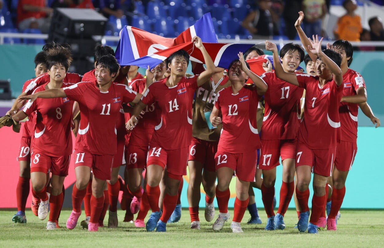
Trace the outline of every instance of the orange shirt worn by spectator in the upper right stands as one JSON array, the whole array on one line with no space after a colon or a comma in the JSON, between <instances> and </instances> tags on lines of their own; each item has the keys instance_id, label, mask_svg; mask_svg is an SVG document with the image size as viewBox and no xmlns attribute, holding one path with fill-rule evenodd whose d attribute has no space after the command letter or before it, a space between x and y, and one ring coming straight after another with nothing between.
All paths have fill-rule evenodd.
<instances>
[{"instance_id":1,"label":"orange shirt worn by spectator in the upper right stands","mask_svg":"<svg viewBox=\"0 0 384 248\"><path fill-rule=\"evenodd\" d=\"M360 41L362 32L361 18L359 15L344 15L339 18L335 34L338 39L348 41Z\"/></svg>"}]
</instances>

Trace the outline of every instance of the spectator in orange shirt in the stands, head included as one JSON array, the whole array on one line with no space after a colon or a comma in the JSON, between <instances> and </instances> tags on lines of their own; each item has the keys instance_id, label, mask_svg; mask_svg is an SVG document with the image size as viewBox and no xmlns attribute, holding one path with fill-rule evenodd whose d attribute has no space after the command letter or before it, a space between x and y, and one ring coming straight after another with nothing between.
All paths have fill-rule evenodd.
<instances>
[{"instance_id":1,"label":"spectator in orange shirt in the stands, head included","mask_svg":"<svg viewBox=\"0 0 384 248\"><path fill-rule=\"evenodd\" d=\"M337 27L334 31L335 39L359 41L362 26L360 16L355 13L358 5L355 0L345 0L343 7L347 13L340 17L337 22Z\"/></svg>"}]
</instances>

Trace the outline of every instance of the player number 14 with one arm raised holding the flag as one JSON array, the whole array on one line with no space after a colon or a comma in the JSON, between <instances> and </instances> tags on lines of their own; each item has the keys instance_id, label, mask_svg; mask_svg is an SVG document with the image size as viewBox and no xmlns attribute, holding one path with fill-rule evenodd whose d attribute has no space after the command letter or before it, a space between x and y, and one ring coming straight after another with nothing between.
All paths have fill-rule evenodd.
<instances>
[{"instance_id":1,"label":"player number 14 with one arm raised holding the flag","mask_svg":"<svg viewBox=\"0 0 384 248\"><path fill-rule=\"evenodd\" d=\"M143 94L142 100L134 107L127 127L137 124L137 116L142 109L157 103L160 111L160 123L149 145L147 159L147 197L152 209L146 224L147 231L166 231L166 223L172 214L178 197L178 188L182 175L187 173L188 148L192 138L192 101L196 89L204 84L215 72L215 65L205 50L201 39L192 38L195 47L202 52L207 70L200 75L186 78L185 71L189 55L179 50L167 59L170 76L151 84ZM163 212L159 208L159 183L167 165L166 192L163 200ZM161 216L161 218L160 218ZM160 221L159 221L160 220Z\"/></svg>"}]
</instances>

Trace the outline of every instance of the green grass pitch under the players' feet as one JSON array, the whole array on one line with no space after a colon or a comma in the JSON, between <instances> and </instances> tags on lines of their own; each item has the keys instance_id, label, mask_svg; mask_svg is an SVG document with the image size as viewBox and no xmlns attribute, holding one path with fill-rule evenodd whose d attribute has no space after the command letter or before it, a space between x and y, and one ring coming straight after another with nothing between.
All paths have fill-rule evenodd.
<instances>
[{"instance_id":1,"label":"green grass pitch under the players' feet","mask_svg":"<svg viewBox=\"0 0 384 248\"><path fill-rule=\"evenodd\" d=\"M46 221L39 220L31 211L26 212L27 223L11 221L15 211L0 211L0 247L383 247L384 210L342 210L337 231L321 231L319 235L299 233L294 229L296 211L285 215L285 230L265 231L266 216L262 209L262 225L247 225L245 213L243 234L234 234L227 222L222 231L214 232L212 223L204 220L204 209L200 209L201 230L190 230L187 210L182 211L179 223L167 225L167 233L148 233L145 228L136 228L133 223L122 222L123 211L119 210L119 227L99 228L90 233L81 229L79 223L74 230L65 228L70 215L63 210L60 217L62 228L45 230ZM233 216L233 210L230 210ZM83 220L84 214L79 220ZM108 212L104 225L108 223Z\"/></svg>"}]
</instances>

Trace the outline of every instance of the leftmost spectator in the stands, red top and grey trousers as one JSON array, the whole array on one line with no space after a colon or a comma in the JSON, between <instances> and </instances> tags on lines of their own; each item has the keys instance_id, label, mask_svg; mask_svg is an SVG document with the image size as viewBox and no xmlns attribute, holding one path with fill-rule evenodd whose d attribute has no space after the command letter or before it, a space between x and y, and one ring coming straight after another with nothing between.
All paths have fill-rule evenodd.
<instances>
[{"instance_id":1,"label":"leftmost spectator in the stands, red top and grey trousers","mask_svg":"<svg viewBox=\"0 0 384 248\"><path fill-rule=\"evenodd\" d=\"M46 7L45 0L19 0L17 4L17 22L20 30L37 28L47 33L50 26L52 8Z\"/></svg>"}]
</instances>

